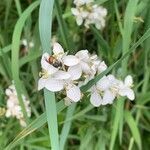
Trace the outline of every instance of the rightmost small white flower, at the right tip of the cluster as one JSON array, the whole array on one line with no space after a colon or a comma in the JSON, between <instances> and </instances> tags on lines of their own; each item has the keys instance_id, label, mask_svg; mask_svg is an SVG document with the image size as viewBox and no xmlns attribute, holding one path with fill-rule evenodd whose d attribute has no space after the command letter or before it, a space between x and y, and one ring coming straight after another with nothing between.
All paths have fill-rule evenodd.
<instances>
[{"instance_id":1,"label":"rightmost small white flower, at the right tip of the cluster","mask_svg":"<svg viewBox=\"0 0 150 150\"><path fill-rule=\"evenodd\" d=\"M134 94L134 91L131 89L132 86L133 86L132 76L128 75L125 78L124 83L120 82L119 95L127 96L130 100L134 100L135 94Z\"/></svg>"}]
</instances>

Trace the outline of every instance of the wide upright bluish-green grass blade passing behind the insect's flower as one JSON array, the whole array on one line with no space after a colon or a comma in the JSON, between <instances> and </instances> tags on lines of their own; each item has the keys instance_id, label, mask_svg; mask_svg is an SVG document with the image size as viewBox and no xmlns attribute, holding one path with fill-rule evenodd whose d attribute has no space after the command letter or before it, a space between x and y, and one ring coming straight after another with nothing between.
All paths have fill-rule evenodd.
<instances>
[{"instance_id":1,"label":"wide upright bluish-green grass blade passing behind the insect's flower","mask_svg":"<svg viewBox=\"0 0 150 150\"><path fill-rule=\"evenodd\" d=\"M51 53L51 26L54 0L42 0L39 11L39 31L43 53ZM50 134L51 147L59 150L59 134L55 94L44 89L46 116Z\"/></svg>"}]
</instances>

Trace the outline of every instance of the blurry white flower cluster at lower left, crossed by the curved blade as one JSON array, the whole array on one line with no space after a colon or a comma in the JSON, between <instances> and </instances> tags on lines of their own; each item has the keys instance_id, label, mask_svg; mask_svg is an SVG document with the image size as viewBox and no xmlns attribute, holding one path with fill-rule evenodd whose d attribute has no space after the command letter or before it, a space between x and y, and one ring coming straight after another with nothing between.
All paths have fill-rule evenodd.
<instances>
[{"instance_id":1,"label":"blurry white flower cluster at lower left, crossed by the curved blade","mask_svg":"<svg viewBox=\"0 0 150 150\"><path fill-rule=\"evenodd\" d=\"M23 117L23 112L21 109L21 106L19 105L18 97L17 97L17 92L15 89L15 86L12 84L6 89L5 91L8 99L7 99L7 108L6 108L6 117L16 117L20 125L22 127L26 126L26 122ZM27 116L31 116L31 108L29 107L30 102L26 99L24 95L22 95L22 99L25 105L25 109L27 112Z\"/></svg>"}]
</instances>

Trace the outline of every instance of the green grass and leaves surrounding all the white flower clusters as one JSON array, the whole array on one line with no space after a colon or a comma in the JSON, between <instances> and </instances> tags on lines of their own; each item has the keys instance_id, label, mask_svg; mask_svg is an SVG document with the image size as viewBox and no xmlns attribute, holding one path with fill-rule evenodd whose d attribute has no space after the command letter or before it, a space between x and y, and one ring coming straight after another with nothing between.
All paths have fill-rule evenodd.
<instances>
[{"instance_id":1,"label":"green grass and leaves surrounding all the white flower clusters","mask_svg":"<svg viewBox=\"0 0 150 150\"><path fill-rule=\"evenodd\" d=\"M0 1L0 107L6 107L5 89L13 80L28 123L22 129L17 120L0 116L0 149L149 150L150 2L95 2L108 9L102 32L76 25L71 0ZM66 51L88 49L110 66L82 87L83 92L109 72L122 79L131 74L135 101L118 98L113 105L94 108L86 95L66 107L59 95L37 91L40 57L42 52L51 53L51 35ZM19 51L22 38L35 43L27 55ZM21 94L30 100L31 118Z\"/></svg>"}]
</instances>

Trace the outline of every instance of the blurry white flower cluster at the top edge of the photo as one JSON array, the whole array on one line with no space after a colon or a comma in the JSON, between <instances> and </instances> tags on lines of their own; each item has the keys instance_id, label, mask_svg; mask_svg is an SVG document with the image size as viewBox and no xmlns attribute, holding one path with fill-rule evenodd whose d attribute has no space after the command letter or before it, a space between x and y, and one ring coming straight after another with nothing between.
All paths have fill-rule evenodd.
<instances>
[{"instance_id":1,"label":"blurry white flower cluster at the top edge of the photo","mask_svg":"<svg viewBox=\"0 0 150 150\"><path fill-rule=\"evenodd\" d=\"M79 26L84 24L86 28L89 28L89 25L94 24L99 30L105 27L107 9L93 4L93 0L74 0L74 4L76 7L71 11Z\"/></svg>"}]
</instances>

